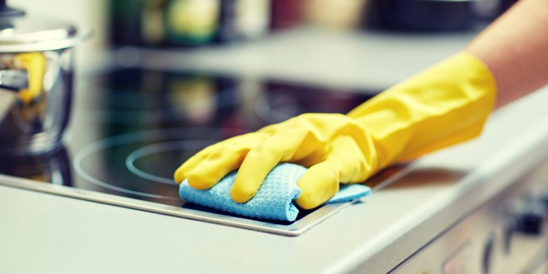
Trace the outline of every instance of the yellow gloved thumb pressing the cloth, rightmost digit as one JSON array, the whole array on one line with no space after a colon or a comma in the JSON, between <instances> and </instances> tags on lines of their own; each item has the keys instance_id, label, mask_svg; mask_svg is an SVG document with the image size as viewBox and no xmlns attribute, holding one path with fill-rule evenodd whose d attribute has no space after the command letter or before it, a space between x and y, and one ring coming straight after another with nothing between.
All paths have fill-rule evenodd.
<instances>
[{"instance_id":1,"label":"yellow gloved thumb pressing the cloth, rightmost digit","mask_svg":"<svg viewBox=\"0 0 548 274\"><path fill-rule=\"evenodd\" d=\"M338 191L338 165L329 158L319 164L310 166L310 169L297 182L301 188L301 196L297 198L297 205L303 209L312 209L325 203Z\"/></svg>"}]
</instances>

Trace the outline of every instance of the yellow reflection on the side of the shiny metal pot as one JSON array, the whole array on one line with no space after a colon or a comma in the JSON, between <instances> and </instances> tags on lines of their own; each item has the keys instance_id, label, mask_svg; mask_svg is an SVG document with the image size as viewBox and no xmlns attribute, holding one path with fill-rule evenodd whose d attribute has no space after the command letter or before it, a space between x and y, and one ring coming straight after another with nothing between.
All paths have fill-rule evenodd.
<instances>
[{"instance_id":1,"label":"yellow reflection on the side of the shiny metal pot","mask_svg":"<svg viewBox=\"0 0 548 274\"><path fill-rule=\"evenodd\" d=\"M27 70L28 87L19 90L19 98L29 103L42 94L42 81L46 70L46 58L40 52L18 53L15 60Z\"/></svg>"}]
</instances>

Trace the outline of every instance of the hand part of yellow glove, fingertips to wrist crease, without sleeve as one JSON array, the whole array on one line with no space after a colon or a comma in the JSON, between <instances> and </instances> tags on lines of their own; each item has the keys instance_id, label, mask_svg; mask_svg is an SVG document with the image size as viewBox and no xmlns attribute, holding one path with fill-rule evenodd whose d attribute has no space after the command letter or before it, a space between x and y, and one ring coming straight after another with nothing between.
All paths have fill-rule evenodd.
<instances>
[{"instance_id":1,"label":"hand part of yellow glove, fingertips to wrist crease, without sleeve","mask_svg":"<svg viewBox=\"0 0 548 274\"><path fill-rule=\"evenodd\" d=\"M297 183L297 204L310 209L332 197L339 182L364 182L377 169L377 153L367 129L349 116L303 114L207 147L177 169L175 181L208 189L239 168L231 195L244 203L279 162L310 167Z\"/></svg>"}]
</instances>

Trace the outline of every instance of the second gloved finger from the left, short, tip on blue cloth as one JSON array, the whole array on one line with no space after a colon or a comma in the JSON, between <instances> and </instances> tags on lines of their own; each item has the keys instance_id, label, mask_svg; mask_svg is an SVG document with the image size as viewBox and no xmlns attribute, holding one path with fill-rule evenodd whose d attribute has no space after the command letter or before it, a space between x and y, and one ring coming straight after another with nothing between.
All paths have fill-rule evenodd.
<instances>
[{"instance_id":1,"label":"second gloved finger from the left, short, tip on blue cloth","mask_svg":"<svg viewBox=\"0 0 548 274\"><path fill-rule=\"evenodd\" d=\"M188 184L196 189L208 189L225 175L238 169L249 152L249 147L227 147L210 153L195 169L188 174Z\"/></svg>"}]
</instances>

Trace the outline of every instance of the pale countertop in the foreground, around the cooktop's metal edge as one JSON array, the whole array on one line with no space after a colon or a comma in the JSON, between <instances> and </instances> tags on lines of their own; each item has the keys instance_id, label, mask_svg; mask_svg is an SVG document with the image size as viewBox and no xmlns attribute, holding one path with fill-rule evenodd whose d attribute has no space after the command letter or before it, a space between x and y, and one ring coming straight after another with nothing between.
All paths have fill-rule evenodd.
<instances>
[{"instance_id":1,"label":"pale countertop in the foreground, around the cooktop's metal edge","mask_svg":"<svg viewBox=\"0 0 548 274\"><path fill-rule=\"evenodd\" d=\"M416 66L391 64L418 71L440 55L423 57ZM386 273L548 158L547 101L545 88L508 105L481 138L421 158L386 188L297 237L0 186L0 272Z\"/></svg>"}]
</instances>

